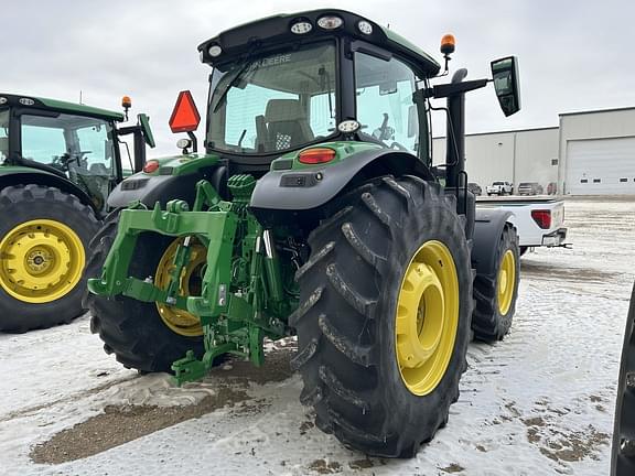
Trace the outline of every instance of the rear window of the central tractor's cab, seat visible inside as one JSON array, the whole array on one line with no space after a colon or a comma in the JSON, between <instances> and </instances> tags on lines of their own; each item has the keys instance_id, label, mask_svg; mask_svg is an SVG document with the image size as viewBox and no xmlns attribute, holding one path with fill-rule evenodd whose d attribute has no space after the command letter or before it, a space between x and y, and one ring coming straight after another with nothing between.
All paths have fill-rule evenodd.
<instances>
[{"instance_id":1,"label":"rear window of the central tractor's cab, seat visible inside","mask_svg":"<svg viewBox=\"0 0 635 476\"><path fill-rule=\"evenodd\" d=\"M214 69L207 145L269 154L324 140L335 132L333 43L289 46Z\"/></svg>"}]
</instances>

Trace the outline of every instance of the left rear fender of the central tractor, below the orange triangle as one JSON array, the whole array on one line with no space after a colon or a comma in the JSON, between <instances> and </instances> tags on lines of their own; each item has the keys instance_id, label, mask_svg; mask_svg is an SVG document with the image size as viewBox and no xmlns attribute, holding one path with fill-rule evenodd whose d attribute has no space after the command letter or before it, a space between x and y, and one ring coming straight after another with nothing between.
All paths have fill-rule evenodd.
<instances>
[{"instance_id":1,"label":"left rear fender of the central tractor, below the orange triangle","mask_svg":"<svg viewBox=\"0 0 635 476\"><path fill-rule=\"evenodd\" d=\"M131 202L140 202L149 207L159 202L164 207L171 199L182 199L192 205L196 197L196 183L205 178L220 187L218 184L222 181L215 178L223 173L227 173L225 166L203 167L186 175L149 175L139 172L115 187L108 196L108 207L123 208Z\"/></svg>"}]
</instances>

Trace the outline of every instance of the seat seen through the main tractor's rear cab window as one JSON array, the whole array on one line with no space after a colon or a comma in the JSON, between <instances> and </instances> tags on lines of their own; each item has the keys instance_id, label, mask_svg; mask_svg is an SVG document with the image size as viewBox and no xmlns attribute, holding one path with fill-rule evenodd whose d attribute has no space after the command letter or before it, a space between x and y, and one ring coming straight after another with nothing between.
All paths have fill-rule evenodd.
<instances>
[{"instance_id":1,"label":"seat seen through the main tractor's rear cab window","mask_svg":"<svg viewBox=\"0 0 635 476\"><path fill-rule=\"evenodd\" d=\"M314 139L309 126L309 119L297 99L270 99L265 111L265 128L260 127L265 136L266 151L291 149L311 142Z\"/></svg>"}]
</instances>

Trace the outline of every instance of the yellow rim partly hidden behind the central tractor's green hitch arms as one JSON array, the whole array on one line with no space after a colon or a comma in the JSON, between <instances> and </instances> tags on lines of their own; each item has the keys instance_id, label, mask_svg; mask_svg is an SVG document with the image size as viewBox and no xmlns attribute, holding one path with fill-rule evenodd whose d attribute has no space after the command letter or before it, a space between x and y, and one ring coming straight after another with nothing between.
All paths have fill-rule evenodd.
<instances>
[{"instance_id":1,"label":"yellow rim partly hidden behind the central tractor's green hitch arms","mask_svg":"<svg viewBox=\"0 0 635 476\"><path fill-rule=\"evenodd\" d=\"M170 272L174 269L174 257L176 248L182 244L184 238L172 241L168 247L159 266L157 267L154 283L159 289L165 290L170 285ZM196 239L192 239L190 251L190 262L183 269L179 281L179 294L189 296L191 294L201 294L201 272L207 262L207 250ZM193 314L182 309L174 307L164 303L157 303L157 310L163 323L176 334L185 337L197 337L203 335L201 321Z\"/></svg>"}]
</instances>

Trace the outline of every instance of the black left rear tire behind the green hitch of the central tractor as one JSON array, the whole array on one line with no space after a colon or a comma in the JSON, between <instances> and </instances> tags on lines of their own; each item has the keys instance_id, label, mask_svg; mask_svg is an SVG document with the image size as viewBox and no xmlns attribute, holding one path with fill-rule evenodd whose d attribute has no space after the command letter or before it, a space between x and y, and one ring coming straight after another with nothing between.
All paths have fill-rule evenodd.
<instances>
[{"instance_id":1,"label":"black left rear tire behind the green hitch of the central tractor","mask_svg":"<svg viewBox=\"0 0 635 476\"><path fill-rule=\"evenodd\" d=\"M90 242L93 255L87 274L98 278L117 236L119 212L111 213L104 227ZM154 275L163 252L173 238L155 234L142 235L137 240L129 275ZM185 337L171 331L163 322L154 303L144 303L117 295L103 298L87 293L90 310L90 331L104 340L104 350L115 354L127 368L144 372L172 372L172 363L194 350L197 358L204 354L203 336Z\"/></svg>"}]
</instances>

